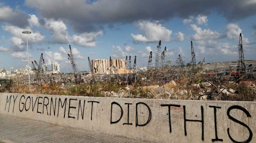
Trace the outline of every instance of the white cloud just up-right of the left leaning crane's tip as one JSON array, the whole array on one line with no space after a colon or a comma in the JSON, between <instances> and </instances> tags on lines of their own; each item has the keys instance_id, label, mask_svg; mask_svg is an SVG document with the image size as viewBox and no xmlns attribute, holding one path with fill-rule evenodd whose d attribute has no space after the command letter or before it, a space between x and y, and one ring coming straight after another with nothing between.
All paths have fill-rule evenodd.
<instances>
[{"instance_id":1,"label":"white cloud just up-right of the left leaning crane's tip","mask_svg":"<svg viewBox=\"0 0 256 143\"><path fill-rule=\"evenodd\" d=\"M96 37L102 35L102 31L98 31L96 33L82 33L80 36L73 35L72 42L76 45L80 45L83 47L95 47L96 46Z\"/></svg>"}]
</instances>

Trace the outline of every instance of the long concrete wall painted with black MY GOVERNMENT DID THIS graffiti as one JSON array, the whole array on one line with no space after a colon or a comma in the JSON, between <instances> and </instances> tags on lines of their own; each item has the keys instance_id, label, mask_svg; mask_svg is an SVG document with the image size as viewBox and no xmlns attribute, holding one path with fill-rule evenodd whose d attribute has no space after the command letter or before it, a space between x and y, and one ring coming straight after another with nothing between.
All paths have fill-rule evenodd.
<instances>
[{"instance_id":1,"label":"long concrete wall painted with black MY GOVERNMENT DID THIS graffiti","mask_svg":"<svg viewBox=\"0 0 256 143\"><path fill-rule=\"evenodd\" d=\"M4 115L154 142L256 142L255 102L0 93L0 107Z\"/></svg>"}]
</instances>

